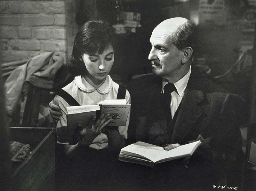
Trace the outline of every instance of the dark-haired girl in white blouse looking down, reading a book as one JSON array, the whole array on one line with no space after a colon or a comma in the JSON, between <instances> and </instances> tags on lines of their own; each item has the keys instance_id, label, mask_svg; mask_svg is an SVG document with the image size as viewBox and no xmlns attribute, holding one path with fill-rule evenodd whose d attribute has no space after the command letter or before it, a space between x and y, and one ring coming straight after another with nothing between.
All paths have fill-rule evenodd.
<instances>
[{"instance_id":1,"label":"dark-haired girl in white blouse looking down, reading a book","mask_svg":"<svg viewBox=\"0 0 256 191\"><path fill-rule=\"evenodd\" d=\"M114 62L114 34L103 21L86 22L77 32L72 56L67 64L75 79L62 88L80 105L96 105L107 99L116 99L119 85L108 73ZM126 90L126 104L130 103L130 94ZM66 155L89 148L101 150L108 146L122 147L127 138L129 116L126 126L106 127L112 120L109 114L102 114L96 120L94 116L87 126L78 128L78 142L68 143L67 107L65 99L56 95L54 104L60 107L62 116L57 123L57 141L64 144ZM105 127L105 128L104 128Z\"/></svg>"}]
</instances>

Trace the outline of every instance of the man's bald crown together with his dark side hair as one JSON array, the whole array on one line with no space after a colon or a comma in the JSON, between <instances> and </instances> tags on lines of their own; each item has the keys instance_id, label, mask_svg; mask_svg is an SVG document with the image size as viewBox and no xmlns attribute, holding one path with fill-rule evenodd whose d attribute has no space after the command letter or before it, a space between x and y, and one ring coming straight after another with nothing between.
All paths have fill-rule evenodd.
<instances>
[{"instance_id":1,"label":"man's bald crown together with his dark side hair","mask_svg":"<svg viewBox=\"0 0 256 191\"><path fill-rule=\"evenodd\" d=\"M152 35L158 33L168 35L170 42L180 50L195 47L196 24L186 18L175 17L164 20L156 26Z\"/></svg>"}]
</instances>

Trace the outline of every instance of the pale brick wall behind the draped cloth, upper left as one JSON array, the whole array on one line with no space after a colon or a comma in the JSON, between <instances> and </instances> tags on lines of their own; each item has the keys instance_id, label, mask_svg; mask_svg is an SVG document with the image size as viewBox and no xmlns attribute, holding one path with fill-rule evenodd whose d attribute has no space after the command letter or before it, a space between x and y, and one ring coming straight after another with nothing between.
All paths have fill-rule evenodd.
<instances>
[{"instance_id":1,"label":"pale brick wall behind the draped cloth, upper left","mask_svg":"<svg viewBox=\"0 0 256 191\"><path fill-rule=\"evenodd\" d=\"M64 0L0 0L0 63L66 52Z\"/></svg>"}]
</instances>

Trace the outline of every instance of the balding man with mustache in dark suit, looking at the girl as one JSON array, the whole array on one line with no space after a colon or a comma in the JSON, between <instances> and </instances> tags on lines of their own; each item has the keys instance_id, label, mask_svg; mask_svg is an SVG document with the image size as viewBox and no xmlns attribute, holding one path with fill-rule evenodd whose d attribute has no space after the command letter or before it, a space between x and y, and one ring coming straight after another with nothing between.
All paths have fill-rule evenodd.
<instances>
[{"instance_id":1,"label":"balding man with mustache in dark suit, looking at the girl","mask_svg":"<svg viewBox=\"0 0 256 191\"><path fill-rule=\"evenodd\" d=\"M213 186L219 181L227 184L228 177L229 184L238 186L234 177L242 149L237 114L243 100L193 74L195 34L196 25L186 18L164 20L153 30L148 55L153 73L133 77L128 86L132 102L128 142L144 141L170 150L200 140L186 165L192 169L188 180L205 178ZM50 107L55 108L52 103ZM172 171L166 166L162 170ZM206 178L207 173L212 177Z\"/></svg>"}]
</instances>

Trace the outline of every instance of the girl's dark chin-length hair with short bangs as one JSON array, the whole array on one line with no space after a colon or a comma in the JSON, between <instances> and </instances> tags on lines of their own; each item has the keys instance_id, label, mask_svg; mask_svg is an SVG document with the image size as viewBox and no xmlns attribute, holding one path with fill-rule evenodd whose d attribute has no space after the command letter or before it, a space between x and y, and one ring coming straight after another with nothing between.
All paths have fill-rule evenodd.
<instances>
[{"instance_id":1,"label":"girl's dark chin-length hair with short bangs","mask_svg":"<svg viewBox=\"0 0 256 191\"><path fill-rule=\"evenodd\" d=\"M115 46L114 32L103 21L88 21L76 33L71 58L67 63L68 71L74 76L84 75L87 71L82 54L102 54L108 46Z\"/></svg>"}]
</instances>

